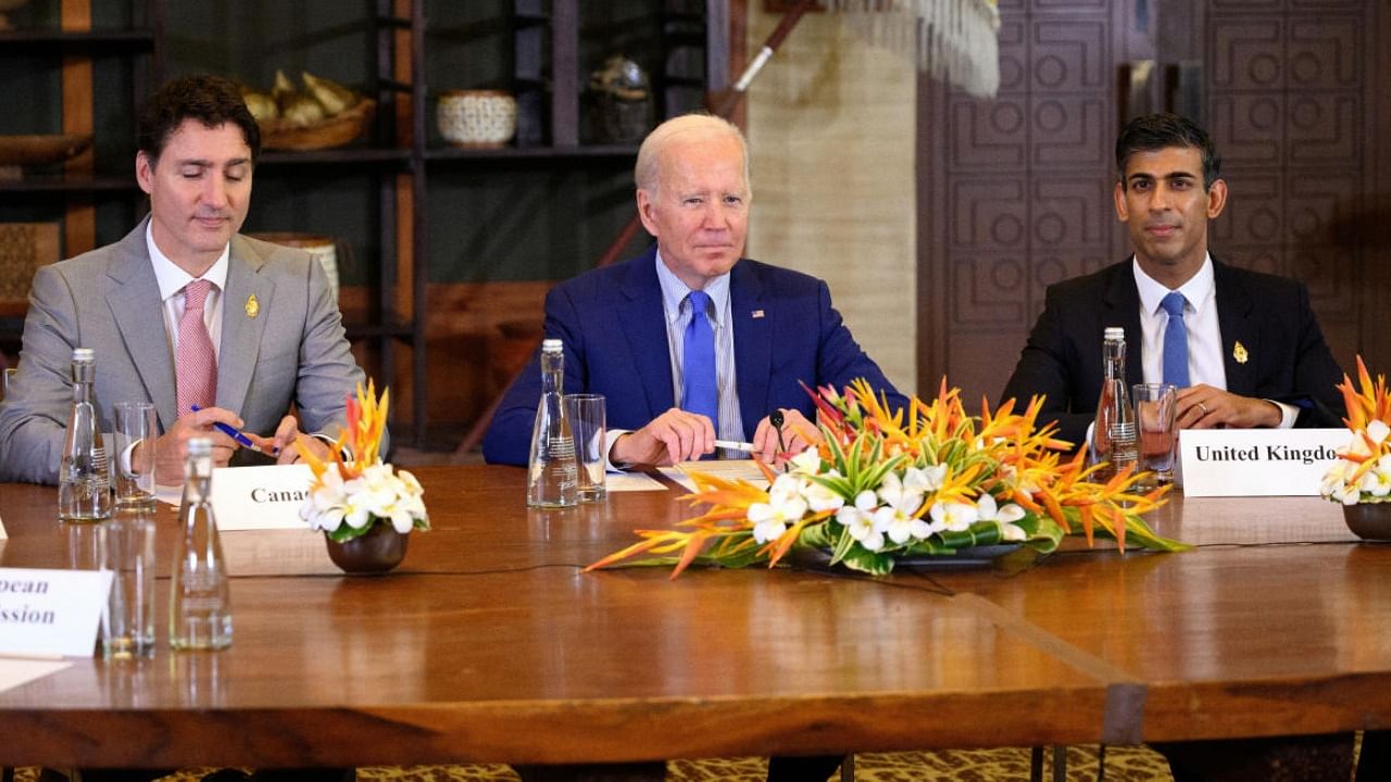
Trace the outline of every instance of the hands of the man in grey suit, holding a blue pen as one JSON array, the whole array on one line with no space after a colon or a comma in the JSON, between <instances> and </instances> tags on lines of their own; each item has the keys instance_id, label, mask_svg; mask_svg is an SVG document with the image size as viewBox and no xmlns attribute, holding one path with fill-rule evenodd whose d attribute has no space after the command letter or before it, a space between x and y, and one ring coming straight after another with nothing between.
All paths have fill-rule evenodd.
<instances>
[{"instance_id":1,"label":"hands of the man in grey suit, holding a blue pen","mask_svg":"<svg viewBox=\"0 0 1391 782\"><path fill-rule=\"evenodd\" d=\"M231 462L232 454L241 448L241 444L213 426L217 423L225 423L232 429L241 430L246 422L236 413L223 408L204 408L179 416L174 422L174 426L154 441L154 481L161 486L184 483L184 461L188 456L188 441L195 437L207 437L211 440L213 466L225 468ZM328 456L328 445L299 431L299 422L295 420L295 416L287 415L280 419L275 434L270 437L262 437L250 431L245 434L262 452L274 456L277 465L292 465L299 461L299 451L292 447L296 441L321 458ZM139 448L136 445L136 454L132 454L132 461L139 459Z\"/></svg>"}]
</instances>

